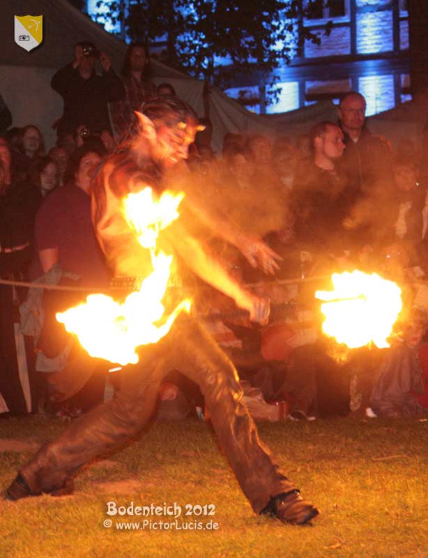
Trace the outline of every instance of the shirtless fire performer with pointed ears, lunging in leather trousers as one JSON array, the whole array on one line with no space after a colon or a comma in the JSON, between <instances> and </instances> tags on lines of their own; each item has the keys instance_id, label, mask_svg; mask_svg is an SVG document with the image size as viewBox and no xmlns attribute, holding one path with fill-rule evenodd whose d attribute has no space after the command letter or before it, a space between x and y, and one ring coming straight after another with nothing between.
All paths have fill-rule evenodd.
<instances>
[{"instance_id":1,"label":"shirtless fire performer with pointed ears, lunging in leather trousers","mask_svg":"<svg viewBox=\"0 0 428 558\"><path fill-rule=\"evenodd\" d=\"M187 157L197 131L193 110L173 97L151 101L139 119L143 130L137 141L107 159L93 188L95 229L118 276L147 276L151 266L147 250L119 209L121 199L147 186L161 193L162 176ZM268 302L231 278L188 234L182 221L178 218L162 231L162 246L168 245L169 252L178 254L200 278L231 296L252 320L265 322ZM253 255L260 250L259 245ZM143 347L139 357L137 365L123 368L123 385L114 400L72 423L22 467L6 490L8 499L70 492L72 477L82 465L119 448L144 428L163 375L176 368L201 387L220 445L254 511L298 525L314 518L318 510L300 496L259 441L234 365L200 324L178 317L169 333Z\"/></svg>"}]
</instances>

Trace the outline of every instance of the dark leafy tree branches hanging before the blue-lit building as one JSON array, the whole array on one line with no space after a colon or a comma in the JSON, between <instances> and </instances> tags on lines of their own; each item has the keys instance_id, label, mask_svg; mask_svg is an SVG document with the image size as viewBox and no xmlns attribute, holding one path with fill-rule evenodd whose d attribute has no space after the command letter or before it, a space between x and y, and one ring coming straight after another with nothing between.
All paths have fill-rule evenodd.
<instances>
[{"instance_id":1,"label":"dark leafy tree branches hanging before the blue-lit building","mask_svg":"<svg viewBox=\"0 0 428 558\"><path fill-rule=\"evenodd\" d=\"M98 21L121 23L125 36L165 39L162 61L217 86L254 75L275 95L277 70L319 37L302 24L323 0L98 1ZM106 6L108 4L108 13Z\"/></svg>"}]
</instances>

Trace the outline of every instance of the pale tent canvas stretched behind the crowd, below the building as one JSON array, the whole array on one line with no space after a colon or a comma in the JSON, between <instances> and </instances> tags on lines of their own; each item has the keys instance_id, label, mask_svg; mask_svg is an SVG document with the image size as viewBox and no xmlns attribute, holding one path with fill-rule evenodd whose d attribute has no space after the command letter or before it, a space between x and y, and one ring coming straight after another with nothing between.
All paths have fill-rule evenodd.
<instances>
[{"instance_id":1,"label":"pale tent canvas stretched behind the crowd, below the building","mask_svg":"<svg viewBox=\"0 0 428 558\"><path fill-rule=\"evenodd\" d=\"M0 94L13 116L13 126L33 123L42 130L47 146L56 140L52 123L61 116L63 102L50 87L52 75L72 60L73 47L81 40L91 40L111 59L118 71L127 45L107 33L88 16L66 0L17 0L1 8ZM43 43L26 52L14 40L14 15L43 15ZM169 82L179 97L187 101L199 116L204 115L204 82L194 80L156 60L152 61L155 83ZM247 111L217 88L211 89L210 119L213 123L213 146L220 150L224 134L263 133L296 137L307 133L321 120L336 121L335 105L317 103L284 114L261 116Z\"/></svg>"}]
</instances>

